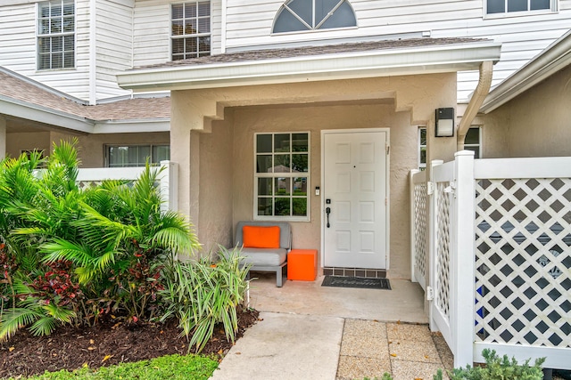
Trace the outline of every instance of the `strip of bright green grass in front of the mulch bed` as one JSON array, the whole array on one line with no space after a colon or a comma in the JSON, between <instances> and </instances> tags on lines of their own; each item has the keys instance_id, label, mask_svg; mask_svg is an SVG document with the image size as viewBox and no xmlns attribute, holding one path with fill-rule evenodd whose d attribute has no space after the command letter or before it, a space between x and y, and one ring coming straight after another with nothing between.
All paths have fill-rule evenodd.
<instances>
[{"instance_id":1,"label":"strip of bright green grass in front of the mulch bed","mask_svg":"<svg viewBox=\"0 0 571 380\"><path fill-rule=\"evenodd\" d=\"M31 376L29 380L206 380L218 368L218 361L198 355L168 355L153 360L121 363L97 369L80 368L73 372L61 370Z\"/></svg>"}]
</instances>

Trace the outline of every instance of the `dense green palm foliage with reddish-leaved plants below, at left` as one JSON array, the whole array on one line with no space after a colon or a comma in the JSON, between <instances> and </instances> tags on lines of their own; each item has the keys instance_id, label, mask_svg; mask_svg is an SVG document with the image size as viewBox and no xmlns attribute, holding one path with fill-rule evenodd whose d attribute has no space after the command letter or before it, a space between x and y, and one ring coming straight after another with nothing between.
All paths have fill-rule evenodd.
<instances>
[{"instance_id":1,"label":"dense green palm foliage with reddish-leaved plants below, at left","mask_svg":"<svg viewBox=\"0 0 571 380\"><path fill-rule=\"evenodd\" d=\"M159 168L81 190L75 144L0 163L0 339L111 313L158 319L164 263L198 247L183 216L161 212Z\"/></svg>"}]
</instances>

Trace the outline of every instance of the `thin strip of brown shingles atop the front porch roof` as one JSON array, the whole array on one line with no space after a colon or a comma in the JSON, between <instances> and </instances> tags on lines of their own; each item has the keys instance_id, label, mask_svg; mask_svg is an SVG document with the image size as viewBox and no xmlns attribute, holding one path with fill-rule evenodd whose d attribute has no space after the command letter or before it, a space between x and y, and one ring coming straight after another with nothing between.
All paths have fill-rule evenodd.
<instances>
[{"instance_id":1,"label":"thin strip of brown shingles atop the front porch roof","mask_svg":"<svg viewBox=\"0 0 571 380\"><path fill-rule=\"evenodd\" d=\"M239 53L224 53L180 61L170 61L155 65L147 65L135 69L153 69L191 65L207 65L240 61L277 60L285 58L315 56L325 54L359 53L374 50L420 48L444 44L470 44L478 41L491 41L486 38L405 38L382 41L368 41L348 44L326 44L316 46L294 47L286 49L265 49Z\"/></svg>"}]
</instances>

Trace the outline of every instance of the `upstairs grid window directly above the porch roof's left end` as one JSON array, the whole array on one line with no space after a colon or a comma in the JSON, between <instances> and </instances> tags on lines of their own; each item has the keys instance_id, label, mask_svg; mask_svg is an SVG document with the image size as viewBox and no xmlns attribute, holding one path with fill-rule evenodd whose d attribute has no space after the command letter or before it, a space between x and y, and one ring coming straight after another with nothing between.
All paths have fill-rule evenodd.
<instances>
[{"instance_id":1,"label":"upstairs grid window directly above the porch roof's left end","mask_svg":"<svg viewBox=\"0 0 571 380\"><path fill-rule=\"evenodd\" d=\"M172 61L211 55L211 2L170 5Z\"/></svg>"}]
</instances>

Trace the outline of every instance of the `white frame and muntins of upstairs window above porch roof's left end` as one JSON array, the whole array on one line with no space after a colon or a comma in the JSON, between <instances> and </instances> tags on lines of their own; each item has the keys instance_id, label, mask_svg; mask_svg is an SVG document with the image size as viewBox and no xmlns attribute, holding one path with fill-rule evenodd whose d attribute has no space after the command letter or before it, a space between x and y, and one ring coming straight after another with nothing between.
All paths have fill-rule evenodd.
<instances>
[{"instance_id":1,"label":"white frame and muntins of upstairs window above porch roof's left end","mask_svg":"<svg viewBox=\"0 0 571 380\"><path fill-rule=\"evenodd\" d=\"M181 20L183 21L183 27L184 27L184 22L185 20L199 20L201 17L198 16L198 4L200 3L208 3L209 4L209 14L208 14L208 19L209 19L209 32L208 33L191 33L191 34L186 34L186 30L183 30L183 34L182 35L174 35L173 34L173 22L176 20ZM196 5L196 17L194 18L189 18L186 19L185 17L185 8L186 8L186 4L195 4ZM172 12L172 8L175 5L183 5L183 18L182 19L174 19L173 18L173 12ZM188 59L192 59L192 58L199 58L199 57L206 57L206 56L210 56L212 55L212 1L211 0L193 0L193 1L184 1L184 2L180 2L180 3L172 3L170 4L170 36L169 36L169 56L170 56L170 61L181 61L181 60L188 60ZM203 16L202 18L206 18L205 16ZM209 37L210 39L210 49L208 50L208 53L206 52L202 52L200 51L200 42L198 42L196 44L196 52L193 53L187 53L186 52L186 47L184 48L184 52L182 53L182 58L178 58L178 59L174 59L173 56L173 42L174 40L177 39L182 39L183 40L183 44L186 46L186 38L198 38L197 41L200 41L200 38L203 37ZM179 55L179 53L176 53Z\"/></svg>"}]
</instances>

